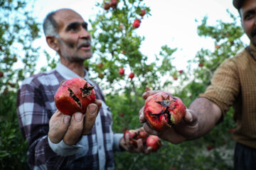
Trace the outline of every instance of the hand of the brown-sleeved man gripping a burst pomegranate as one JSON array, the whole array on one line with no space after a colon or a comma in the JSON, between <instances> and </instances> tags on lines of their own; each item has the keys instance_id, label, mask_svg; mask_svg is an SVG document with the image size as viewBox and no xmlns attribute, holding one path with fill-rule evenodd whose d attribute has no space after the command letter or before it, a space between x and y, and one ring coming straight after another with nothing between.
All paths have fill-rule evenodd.
<instances>
[{"instance_id":1,"label":"hand of the brown-sleeved man gripping a burst pomegranate","mask_svg":"<svg viewBox=\"0 0 256 170\"><path fill-rule=\"evenodd\" d=\"M142 97L146 100L149 96L159 92L160 91L146 91ZM161 131L151 128L151 125L149 125L149 123L146 122L146 118L144 118L143 111L144 107L139 111L139 122L143 123L144 130L151 135L159 136L163 140L178 144L192 139L196 132L198 132L197 116L196 113L191 110L186 110L186 115L181 123L174 125L173 128L166 127L166 129Z\"/></svg>"}]
</instances>

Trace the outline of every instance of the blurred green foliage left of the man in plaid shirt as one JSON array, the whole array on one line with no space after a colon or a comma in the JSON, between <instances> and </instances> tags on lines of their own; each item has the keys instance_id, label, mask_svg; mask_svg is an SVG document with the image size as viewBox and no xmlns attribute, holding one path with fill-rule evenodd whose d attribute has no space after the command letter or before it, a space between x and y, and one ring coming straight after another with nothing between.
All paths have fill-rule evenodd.
<instances>
[{"instance_id":1,"label":"blurred green foliage left of the man in plaid shirt","mask_svg":"<svg viewBox=\"0 0 256 170\"><path fill-rule=\"evenodd\" d=\"M16 115L17 89L36 70L38 23L26 10L26 1L0 1L0 169L26 169L23 142Z\"/></svg>"}]
</instances>

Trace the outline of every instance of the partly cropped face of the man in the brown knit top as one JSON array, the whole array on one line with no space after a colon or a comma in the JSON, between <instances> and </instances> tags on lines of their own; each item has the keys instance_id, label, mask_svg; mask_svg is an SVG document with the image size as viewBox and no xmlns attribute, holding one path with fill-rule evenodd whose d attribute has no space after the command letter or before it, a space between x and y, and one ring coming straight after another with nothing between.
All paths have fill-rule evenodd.
<instances>
[{"instance_id":1,"label":"partly cropped face of the man in the brown knit top","mask_svg":"<svg viewBox=\"0 0 256 170\"><path fill-rule=\"evenodd\" d=\"M256 1L246 0L240 8L242 28L253 45L256 45Z\"/></svg>"}]
</instances>

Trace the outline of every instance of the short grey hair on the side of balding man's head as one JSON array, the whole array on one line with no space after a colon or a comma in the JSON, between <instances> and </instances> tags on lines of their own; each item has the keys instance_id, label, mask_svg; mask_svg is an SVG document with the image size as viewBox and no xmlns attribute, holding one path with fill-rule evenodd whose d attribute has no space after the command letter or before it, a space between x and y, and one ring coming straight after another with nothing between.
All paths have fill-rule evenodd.
<instances>
[{"instance_id":1,"label":"short grey hair on the side of balding man's head","mask_svg":"<svg viewBox=\"0 0 256 170\"><path fill-rule=\"evenodd\" d=\"M53 16L55 15L56 11L48 13L46 18L43 21L43 33L45 35L51 35L54 37L58 37L58 24L56 23Z\"/></svg>"}]
</instances>

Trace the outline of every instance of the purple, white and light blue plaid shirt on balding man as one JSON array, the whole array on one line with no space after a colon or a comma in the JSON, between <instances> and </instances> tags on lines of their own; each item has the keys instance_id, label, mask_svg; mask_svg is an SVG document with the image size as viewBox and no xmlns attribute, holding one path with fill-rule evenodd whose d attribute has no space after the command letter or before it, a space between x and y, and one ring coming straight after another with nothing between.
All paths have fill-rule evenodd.
<instances>
[{"instance_id":1,"label":"purple, white and light blue plaid shirt on balding man","mask_svg":"<svg viewBox=\"0 0 256 170\"><path fill-rule=\"evenodd\" d=\"M63 64L43 74L23 81L18 89L17 113L23 137L28 140L29 169L114 169L114 153L119 151L122 134L112 132L112 113L106 106L99 86L95 85L97 99L102 101L100 114L90 135L82 136L77 145L53 144L48 139L49 120L57 110L54 95L60 81L79 77Z\"/></svg>"}]
</instances>

